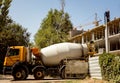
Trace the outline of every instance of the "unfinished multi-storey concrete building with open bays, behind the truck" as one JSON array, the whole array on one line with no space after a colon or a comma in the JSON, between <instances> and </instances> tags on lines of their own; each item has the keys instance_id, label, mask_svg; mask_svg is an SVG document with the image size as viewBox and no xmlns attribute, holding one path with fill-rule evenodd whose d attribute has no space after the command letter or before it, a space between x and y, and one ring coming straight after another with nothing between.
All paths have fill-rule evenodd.
<instances>
[{"instance_id":1,"label":"unfinished multi-storey concrete building with open bays, behind the truck","mask_svg":"<svg viewBox=\"0 0 120 83\"><path fill-rule=\"evenodd\" d=\"M81 44L94 41L97 54L103 51L120 54L120 18L75 35L69 41Z\"/></svg>"}]
</instances>

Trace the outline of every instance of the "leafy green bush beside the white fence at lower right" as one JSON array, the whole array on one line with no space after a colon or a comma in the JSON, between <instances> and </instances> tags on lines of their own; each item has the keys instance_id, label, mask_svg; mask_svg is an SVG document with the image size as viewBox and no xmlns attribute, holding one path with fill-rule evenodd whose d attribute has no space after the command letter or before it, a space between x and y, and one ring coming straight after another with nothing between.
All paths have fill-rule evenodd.
<instances>
[{"instance_id":1,"label":"leafy green bush beside the white fence at lower right","mask_svg":"<svg viewBox=\"0 0 120 83\"><path fill-rule=\"evenodd\" d=\"M103 79L120 82L120 56L103 53L99 58Z\"/></svg>"}]
</instances>

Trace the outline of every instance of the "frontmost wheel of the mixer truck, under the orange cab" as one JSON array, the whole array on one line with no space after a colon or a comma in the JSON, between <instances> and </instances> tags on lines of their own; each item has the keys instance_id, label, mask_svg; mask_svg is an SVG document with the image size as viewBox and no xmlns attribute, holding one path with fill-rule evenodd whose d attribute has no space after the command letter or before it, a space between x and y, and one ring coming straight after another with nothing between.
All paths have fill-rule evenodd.
<instances>
[{"instance_id":1,"label":"frontmost wheel of the mixer truck, under the orange cab","mask_svg":"<svg viewBox=\"0 0 120 83\"><path fill-rule=\"evenodd\" d=\"M27 72L24 68L16 68L13 73L14 80L25 80L27 78Z\"/></svg>"}]
</instances>

